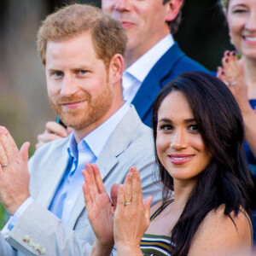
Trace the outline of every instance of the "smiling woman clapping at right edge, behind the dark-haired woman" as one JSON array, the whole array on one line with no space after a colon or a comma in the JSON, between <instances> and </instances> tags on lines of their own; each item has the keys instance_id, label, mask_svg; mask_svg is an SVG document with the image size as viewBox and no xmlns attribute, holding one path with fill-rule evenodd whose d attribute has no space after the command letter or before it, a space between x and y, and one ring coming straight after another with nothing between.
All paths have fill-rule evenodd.
<instances>
[{"instance_id":1,"label":"smiling woman clapping at right edge, behind the dark-haired woman","mask_svg":"<svg viewBox=\"0 0 256 256\"><path fill-rule=\"evenodd\" d=\"M256 0L222 0L230 39L241 54L226 51L218 78L228 85L241 109L245 126L245 150L256 176Z\"/></svg>"}]
</instances>

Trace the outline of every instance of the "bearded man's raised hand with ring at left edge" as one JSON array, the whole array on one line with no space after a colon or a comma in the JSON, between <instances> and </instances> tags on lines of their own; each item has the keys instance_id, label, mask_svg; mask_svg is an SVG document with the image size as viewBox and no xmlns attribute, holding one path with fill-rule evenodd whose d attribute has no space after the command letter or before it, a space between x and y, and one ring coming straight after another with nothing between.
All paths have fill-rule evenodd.
<instances>
[{"instance_id":1,"label":"bearded man's raised hand with ring at left edge","mask_svg":"<svg viewBox=\"0 0 256 256\"><path fill-rule=\"evenodd\" d=\"M19 151L9 131L0 126L0 201L10 215L30 196L29 145L24 143Z\"/></svg>"}]
</instances>

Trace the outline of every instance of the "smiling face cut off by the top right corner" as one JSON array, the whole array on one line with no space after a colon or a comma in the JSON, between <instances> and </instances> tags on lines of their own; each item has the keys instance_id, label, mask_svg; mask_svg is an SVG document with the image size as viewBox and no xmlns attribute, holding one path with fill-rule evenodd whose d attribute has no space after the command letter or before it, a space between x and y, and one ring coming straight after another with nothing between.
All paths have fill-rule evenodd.
<instances>
[{"instance_id":1,"label":"smiling face cut off by the top right corner","mask_svg":"<svg viewBox=\"0 0 256 256\"><path fill-rule=\"evenodd\" d=\"M256 0L230 0L227 20L236 49L256 58Z\"/></svg>"}]
</instances>

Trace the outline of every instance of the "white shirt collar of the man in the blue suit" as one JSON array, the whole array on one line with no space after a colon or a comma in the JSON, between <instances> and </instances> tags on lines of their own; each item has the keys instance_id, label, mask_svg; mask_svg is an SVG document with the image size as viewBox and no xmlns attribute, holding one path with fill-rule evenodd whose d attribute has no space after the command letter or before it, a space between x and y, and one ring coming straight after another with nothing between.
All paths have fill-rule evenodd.
<instances>
[{"instance_id":1,"label":"white shirt collar of the man in the blue suit","mask_svg":"<svg viewBox=\"0 0 256 256\"><path fill-rule=\"evenodd\" d=\"M160 60L161 56L164 55L173 44L174 39L172 38L172 34L168 34L165 38L162 38L160 42L149 49L144 55L138 58L137 61L131 64L130 67L126 68L125 73L130 73L142 83L151 68L154 67L154 64Z\"/></svg>"}]
</instances>

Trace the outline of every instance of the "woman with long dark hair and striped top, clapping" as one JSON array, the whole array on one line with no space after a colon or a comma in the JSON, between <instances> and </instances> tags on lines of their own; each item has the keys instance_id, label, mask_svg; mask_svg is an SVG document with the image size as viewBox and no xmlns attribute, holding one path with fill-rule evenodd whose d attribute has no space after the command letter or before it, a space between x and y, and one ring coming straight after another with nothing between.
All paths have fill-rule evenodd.
<instances>
[{"instance_id":1,"label":"woman with long dark hair and striped top, clapping","mask_svg":"<svg viewBox=\"0 0 256 256\"><path fill-rule=\"evenodd\" d=\"M116 186L111 202L96 165L86 164L91 255L109 255L113 242L119 255L250 255L253 181L230 90L206 73L179 75L154 102L153 130L163 200L150 221L152 198L143 203L135 167L116 204Z\"/></svg>"}]
</instances>

